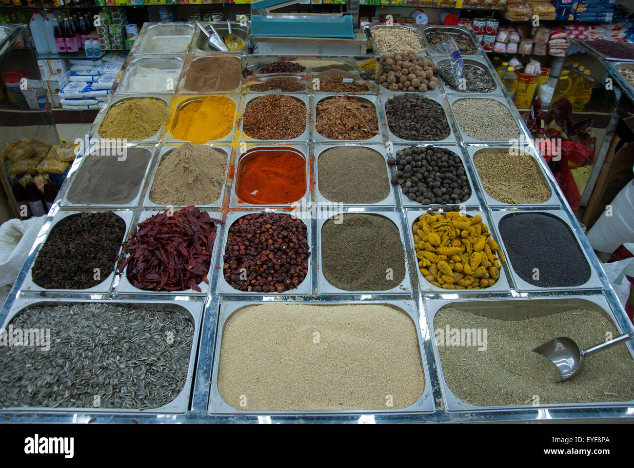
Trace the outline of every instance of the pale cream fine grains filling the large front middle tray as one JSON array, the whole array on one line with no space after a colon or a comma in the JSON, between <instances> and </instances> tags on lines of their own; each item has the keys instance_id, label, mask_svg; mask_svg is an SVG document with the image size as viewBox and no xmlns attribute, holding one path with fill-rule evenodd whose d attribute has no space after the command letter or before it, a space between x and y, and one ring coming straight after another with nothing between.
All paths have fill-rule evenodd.
<instances>
[{"instance_id":1,"label":"pale cream fine grains filling the large front middle tray","mask_svg":"<svg viewBox=\"0 0 634 468\"><path fill-rule=\"evenodd\" d=\"M415 325L389 306L274 302L224 324L218 391L240 410L406 408L424 388Z\"/></svg>"}]
</instances>

